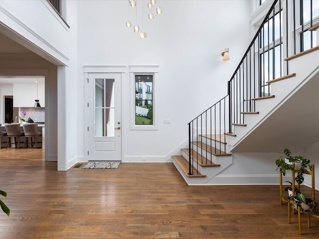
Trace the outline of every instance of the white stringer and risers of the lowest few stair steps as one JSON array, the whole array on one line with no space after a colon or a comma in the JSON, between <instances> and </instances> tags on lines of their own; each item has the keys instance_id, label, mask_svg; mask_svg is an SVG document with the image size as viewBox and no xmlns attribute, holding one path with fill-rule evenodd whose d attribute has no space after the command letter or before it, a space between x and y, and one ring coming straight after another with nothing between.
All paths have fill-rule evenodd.
<instances>
[{"instance_id":1,"label":"white stringer and risers of the lowest few stair steps","mask_svg":"<svg viewBox=\"0 0 319 239\"><path fill-rule=\"evenodd\" d=\"M182 154L183 155L183 154ZM185 156L183 155L185 158ZM216 156L214 156L216 157ZM173 160L173 164L175 165L176 169L180 173L180 175L183 177L187 185L213 185L209 184L208 182L211 181L212 178L214 178L216 175L220 174L223 170L225 170L227 167L229 167L233 163L233 156L217 156L221 159L218 159L216 161L219 162L220 166L217 167L202 167L198 165L198 171L206 175L206 177L187 177L185 173L182 171L182 169L179 167L179 165ZM188 156L185 158L188 161Z\"/></svg>"}]
</instances>

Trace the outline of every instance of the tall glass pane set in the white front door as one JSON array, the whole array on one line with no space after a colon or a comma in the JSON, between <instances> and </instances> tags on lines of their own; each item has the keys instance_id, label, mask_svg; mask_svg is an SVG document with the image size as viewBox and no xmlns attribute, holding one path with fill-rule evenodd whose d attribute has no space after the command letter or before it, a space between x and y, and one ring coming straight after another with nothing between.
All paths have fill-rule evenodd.
<instances>
[{"instance_id":1,"label":"tall glass pane set in the white front door","mask_svg":"<svg viewBox=\"0 0 319 239\"><path fill-rule=\"evenodd\" d=\"M114 79L95 79L95 137L115 136Z\"/></svg>"}]
</instances>

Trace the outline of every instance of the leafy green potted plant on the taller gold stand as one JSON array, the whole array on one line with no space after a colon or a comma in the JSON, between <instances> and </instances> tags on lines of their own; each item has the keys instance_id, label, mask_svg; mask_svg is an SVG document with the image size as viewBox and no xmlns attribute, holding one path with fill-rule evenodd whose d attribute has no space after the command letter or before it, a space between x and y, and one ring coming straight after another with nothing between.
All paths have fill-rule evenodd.
<instances>
[{"instance_id":1,"label":"leafy green potted plant on the taller gold stand","mask_svg":"<svg viewBox=\"0 0 319 239\"><path fill-rule=\"evenodd\" d=\"M292 156L291 151L288 148L285 148L284 154L285 156L282 156L276 160L276 170L282 173L284 176L286 175L286 170L300 170L299 174L295 177L295 180L297 183L303 183L303 174L305 170L307 170L307 167L312 171L310 160L301 155ZM283 160L283 157L285 160ZM296 167L296 165L298 165L298 167Z\"/></svg>"}]
</instances>

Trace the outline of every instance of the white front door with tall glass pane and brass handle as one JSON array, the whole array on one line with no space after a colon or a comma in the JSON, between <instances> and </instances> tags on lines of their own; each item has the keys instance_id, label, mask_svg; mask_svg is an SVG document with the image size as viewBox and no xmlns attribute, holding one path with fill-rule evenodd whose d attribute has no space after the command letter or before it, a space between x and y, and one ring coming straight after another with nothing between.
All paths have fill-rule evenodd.
<instances>
[{"instance_id":1,"label":"white front door with tall glass pane and brass handle","mask_svg":"<svg viewBox=\"0 0 319 239\"><path fill-rule=\"evenodd\" d=\"M121 161L121 74L88 78L88 160Z\"/></svg>"}]
</instances>

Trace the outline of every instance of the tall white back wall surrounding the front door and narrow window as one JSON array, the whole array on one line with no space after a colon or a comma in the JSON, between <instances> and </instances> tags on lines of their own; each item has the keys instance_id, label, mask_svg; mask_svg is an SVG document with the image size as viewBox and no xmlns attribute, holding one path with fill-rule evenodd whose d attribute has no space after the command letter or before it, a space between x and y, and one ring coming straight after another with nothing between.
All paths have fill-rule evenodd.
<instances>
[{"instance_id":1,"label":"tall white back wall surrounding the front door and narrow window","mask_svg":"<svg viewBox=\"0 0 319 239\"><path fill-rule=\"evenodd\" d=\"M187 138L187 122L226 96L227 81L250 40L248 0L159 2L163 13L144 22L148 38L142 40L125 26L127 0L78 1L79 103L85 105L83 65L159 65L159 130L130 130L129 93L135 89L129 88L128 72L123 79L124 161L171 160L169 153ZM222 61L225 47L230 48L228 62Z\"/></svg>"}]
</instances>

